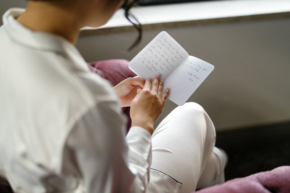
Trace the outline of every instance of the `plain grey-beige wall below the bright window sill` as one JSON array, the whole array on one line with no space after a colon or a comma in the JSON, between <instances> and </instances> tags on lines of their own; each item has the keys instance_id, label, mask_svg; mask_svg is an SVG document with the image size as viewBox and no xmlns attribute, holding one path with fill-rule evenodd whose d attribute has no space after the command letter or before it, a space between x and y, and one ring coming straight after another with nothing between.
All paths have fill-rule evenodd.
<instances>
[{"instance_id":1,"label":"plain grey-beige wall below the bright window sill","mask_svg":"<svg viewBox=\"0 0 290 193\"><path fill-rule=\"evenodd\" d=\"M201 104L217 130L290 120L290 18L144 31L141 45L126 49L136 32L81 36L87 61L132 59L160 31L215 70L189 101ZM157 124L176 105L167 101Z\"/></svg>"}]
</instances>

